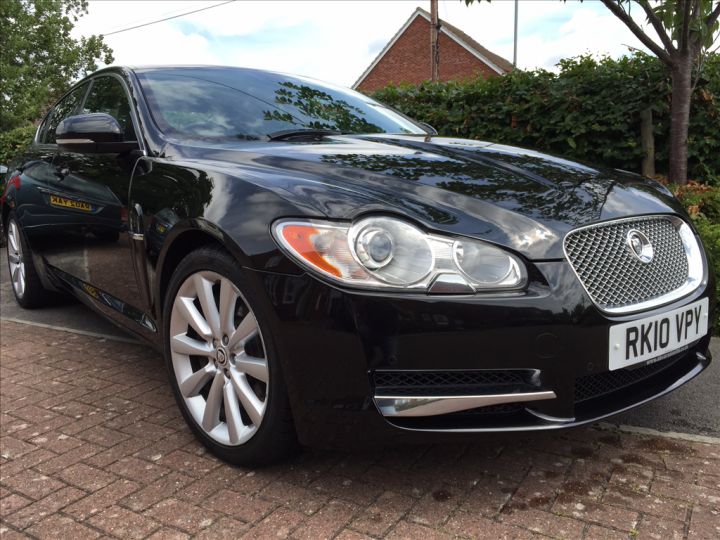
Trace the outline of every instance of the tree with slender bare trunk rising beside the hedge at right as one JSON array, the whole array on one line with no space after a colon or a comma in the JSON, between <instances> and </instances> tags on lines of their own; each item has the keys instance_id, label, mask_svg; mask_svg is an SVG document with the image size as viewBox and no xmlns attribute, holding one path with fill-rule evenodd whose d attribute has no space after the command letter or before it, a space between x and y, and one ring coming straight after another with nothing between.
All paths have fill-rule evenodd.
<instances>
[{"instance_id":1,"label":"tree with slender bare trunk rising beside the hedge at right","mask_svg":"<svg viewBox=\"0 0 720 540\"><path fill-rule=\"evenodd\" d=\"M670 180L687 185L690 101L705 61L717 52L711 49L720 36L720 0L601 1L670 69ZM473 2L475 0L465 0L467 5ZM659 42L650 37L632 18L633 5L643 10Z\"/></svg>"}]
</instances>

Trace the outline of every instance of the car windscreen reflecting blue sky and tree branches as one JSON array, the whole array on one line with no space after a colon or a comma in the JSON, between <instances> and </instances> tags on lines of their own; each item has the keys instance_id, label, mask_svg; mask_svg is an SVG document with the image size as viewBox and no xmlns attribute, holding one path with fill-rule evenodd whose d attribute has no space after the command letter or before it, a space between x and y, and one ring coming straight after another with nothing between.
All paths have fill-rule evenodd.
<instances>
[{"instance_id":1,"label":"car windscreen reflecting blue sky and tree branches","mask_svg":"<svg viewBox=\"0 0 720 540\"><path fill-rule=\"evenodd\" d=\"M360 93L313 79L232 68L168 68L138 77L158 127L181 139L259 140L295 129L427 133Z\"/></svg>"}]
</instances>

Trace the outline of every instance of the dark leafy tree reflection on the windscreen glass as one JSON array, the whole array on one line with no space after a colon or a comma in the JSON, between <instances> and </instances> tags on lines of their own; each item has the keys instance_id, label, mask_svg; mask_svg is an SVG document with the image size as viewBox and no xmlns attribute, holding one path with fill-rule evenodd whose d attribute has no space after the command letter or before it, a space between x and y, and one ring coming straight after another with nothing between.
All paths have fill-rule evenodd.
<instances>
[{"instance_id":1,"label":"dark leafy tree reflection on the windscreen glass","mask_svg":"<svg viewBox=\"0 0 720 540\"><path fill-rule=\"evenodd\" d=\"M275 91L275 103L282 106L297 107L303 115L317 118L317 121L300 124L290 113L280 112L278 109L264 111L265 120L279 120L293 125L303 125L312 129L328 129L339 131L352 131L353 133L384 133L385 131L369 123L365 112L353 107L343 100L334 100L333 97L309 86L298 86L291 82L279 83L284 88Z\"/></svg>"}]
</instances>

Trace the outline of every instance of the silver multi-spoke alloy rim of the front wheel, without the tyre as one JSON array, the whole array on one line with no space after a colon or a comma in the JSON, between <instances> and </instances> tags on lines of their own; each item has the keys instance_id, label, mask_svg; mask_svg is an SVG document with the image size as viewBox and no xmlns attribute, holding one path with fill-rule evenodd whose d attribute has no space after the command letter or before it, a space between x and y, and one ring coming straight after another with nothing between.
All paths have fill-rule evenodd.
<instances>
[{"instance_id":1,"label":"silver multi-spoke alloy rim of the front wheel, without the tyre","mask_svg":"<svg viewBox=\"0 0 720 540\"><path fill-rule=\"evenodd\" d=\"M250 440L265 416L269 370L255 315L230 280L203 271L183 282L170 315L170 351L196 423L221 444Z\"/></svg>"}]
</instances>

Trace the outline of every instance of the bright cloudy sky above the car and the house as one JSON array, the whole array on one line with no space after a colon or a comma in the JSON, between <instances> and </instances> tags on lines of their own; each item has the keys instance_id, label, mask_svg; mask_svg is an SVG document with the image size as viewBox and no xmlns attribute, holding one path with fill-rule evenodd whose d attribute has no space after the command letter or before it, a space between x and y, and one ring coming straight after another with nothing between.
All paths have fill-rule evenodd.
<instances>
[{"instance_id":1,"label":"bright cloudy sky above the car and the house","mask_svg":"<svg viewBox=\"0 0 720 540\"><path fill-rule=\"evenodd\" d=\"M106 35L116 65L242 66L351 87L415 8L430 10L429 0L224 1L90 0L73 37ZM203 8L210 9L127 30ZM510 62L514 9L511 0L469 7L439 1L441 20ZM633 15L643 23L639 11ZM644 50L597 0L520 0L518 19L518 66L526 70L553 70L560 59L588 52L618 57L628 46Z\"/></svg>"}]
</instances>

